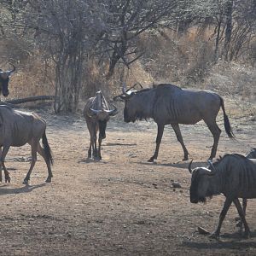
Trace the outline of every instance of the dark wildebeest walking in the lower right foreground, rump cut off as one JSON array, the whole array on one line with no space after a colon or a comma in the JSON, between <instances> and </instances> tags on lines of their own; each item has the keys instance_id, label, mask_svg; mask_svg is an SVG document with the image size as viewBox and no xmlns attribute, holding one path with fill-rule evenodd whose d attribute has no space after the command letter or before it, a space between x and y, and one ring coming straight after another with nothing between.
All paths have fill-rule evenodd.
<instances>
[{"instance_id":1,"label":"dark wildebeest walking in the lower right foreground, rump cut off","mask_svg":"<svg viewBox=\"0 0 256 256\"><path fill-rule=\"evenodd\" d=\"M238 198L256 198L256 160L247 159L241 154L225 154L217 162L210 162L208 167L191 169L190 185L191 203L205 202L207 197L223 193L226 197L224 207L219 216L218 227L212 237L218 238L221 225L230 205L234 202L245 228L245 236L250 235L245 214Z\"/></svg>"}]
</instances>

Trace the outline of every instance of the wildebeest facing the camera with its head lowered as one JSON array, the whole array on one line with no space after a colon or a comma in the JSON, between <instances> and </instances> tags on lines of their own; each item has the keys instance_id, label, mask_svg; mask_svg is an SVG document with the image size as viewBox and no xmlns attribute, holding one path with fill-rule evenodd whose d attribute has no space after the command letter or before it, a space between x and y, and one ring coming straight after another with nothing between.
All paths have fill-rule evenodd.
<instances>
[{"instance_id":1,"label":"wildebeest facing the camera with its head lowered","mask_svg":"<svg viewBox=\"0 0 256 256\"><path fill-rule=\"evenodd\" d=\"M113 104L112 104L113 105ZM84 118L87 128L90 132L90 147L88 150L88 158L93 157L95 160L102 160L101 145L102 139L106 137L107 122L110 116L117 113L117 108L110 105L106 101L102 92L96 92L96 96L91 97L84 106ZM97 131L99 131L99 146L96 147ZM91 154L92 148L92 154Z\"/></svg>"}]
</instances>

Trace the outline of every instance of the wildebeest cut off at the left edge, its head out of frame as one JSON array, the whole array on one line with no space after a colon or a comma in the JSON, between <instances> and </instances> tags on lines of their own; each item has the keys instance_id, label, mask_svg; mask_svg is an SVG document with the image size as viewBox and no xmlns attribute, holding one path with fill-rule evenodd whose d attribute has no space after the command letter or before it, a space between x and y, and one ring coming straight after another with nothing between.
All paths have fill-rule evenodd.
<instances>
[{"instance_id":1,"label":"wildebeest cut off at the left edge, its head out of frame","mask_svg":"<svg viewBox=\"0 0 256 256\"><path fill-rule=\"evenodd\" d=\"M10 182L9 172L7 171L4 160L11 146L20 147L26 143L32 148L32 161L29 171L26 174L23 183L28 183L33 167L37 160L37 152L41 154L48 168L48 177L46 182L51 182L53 177L51 164L53 158L45 134L46 122L36 113L26 113L15 110L5 105L0 105L0 180L2 182L2 166L5 175L5 182ZM44 148L39 141L42 138ZM2 150L3 147L3 150Z\"/></svg>"}]
</instances>

